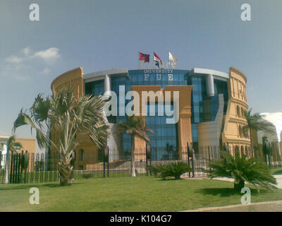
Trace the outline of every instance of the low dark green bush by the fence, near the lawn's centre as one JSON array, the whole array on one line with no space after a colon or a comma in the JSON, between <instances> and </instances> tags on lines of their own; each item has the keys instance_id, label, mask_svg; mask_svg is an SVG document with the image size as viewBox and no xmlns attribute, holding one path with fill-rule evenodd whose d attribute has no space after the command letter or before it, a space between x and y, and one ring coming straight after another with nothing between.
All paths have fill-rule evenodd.
<instances>
[{"instance_id":1,"label":"low dark green bush by the fence, near the lawn's centre","mask_svg":"<svg viewBox=\"0 0 282 226\"><path fill-rule=\"evenodd\" d=\"M173 162L166 165L156 165L152 168L152 172L155 177L161 177L166 179L166 177L174 177L175 179L180 179L180 176L185 172L190 172L191 168L188 164L184 162Z\"/></svg>"}]
</instances>

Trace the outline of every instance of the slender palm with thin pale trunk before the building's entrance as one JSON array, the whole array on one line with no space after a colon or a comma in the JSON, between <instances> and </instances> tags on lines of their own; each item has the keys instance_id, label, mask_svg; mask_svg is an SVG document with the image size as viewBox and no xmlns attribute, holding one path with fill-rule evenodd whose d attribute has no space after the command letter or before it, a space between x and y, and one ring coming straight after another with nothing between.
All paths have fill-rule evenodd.
<instances>
[{"instance_id":1,"label":"slender palm with thin pale trunk before the building's entrance","mask_svg":"<svg viewBox=\"0 0 282 226\"><path fill-rule=\"evenodd\" d=\"M137 136L141 138L143 141L146 141L147 143L151 143L149 136L147 136L147 133L154 133L151 129L149 129L146 126L146 119L143 117L136 117L128 116L127 121L120 121L118 123L118 129L116 133L122 134L127 133L131 135L131 176L135 177L135 146L134 146L134 137Z\"/></svg>"}]
</instances>

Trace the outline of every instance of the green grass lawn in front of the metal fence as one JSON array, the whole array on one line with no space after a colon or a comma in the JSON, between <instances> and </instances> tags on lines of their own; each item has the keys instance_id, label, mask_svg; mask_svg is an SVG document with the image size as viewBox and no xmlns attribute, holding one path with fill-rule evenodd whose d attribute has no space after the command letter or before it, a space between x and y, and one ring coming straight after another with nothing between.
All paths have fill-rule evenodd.
<instances>
[{"instance_id":1,"label":"green grass lawn in front of the metal fence","mask_svg":"<svg viewBox=\"0 0 282 226\"><path fill-rule=\"evenodd\" d=\"M39 188L40 204L29 203ZM58 183L0 185L0 211L178 211L240 203L233 183L210 179L162 181L155 177L113 177ZM252 190L252 203L282 200L282 190Z\"/></svg>"}]
</instances>

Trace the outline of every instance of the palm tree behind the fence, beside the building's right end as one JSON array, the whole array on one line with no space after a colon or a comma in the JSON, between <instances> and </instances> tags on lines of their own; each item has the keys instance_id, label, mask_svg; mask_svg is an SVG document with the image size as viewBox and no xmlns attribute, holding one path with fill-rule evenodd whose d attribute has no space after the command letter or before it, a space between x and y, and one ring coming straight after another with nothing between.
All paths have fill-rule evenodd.
<instances>
[{"instance_id":1,"label":"palm tree behind the fence, beside the building's right end","mask_svg":"<svg viewBox=\"0 0 282 226\"><path fill-rule=\"evenodd\" d=\"M248 129L250 129L250 141L252 146L252 131L264 131L271 134L275 132L273 124L264 120L259 113L251 114L251 112L252 109L248 111L243 109L243 116L247 120L247 126L243 126L243 131L247 134Z\"/></svg>"}]
</instances>

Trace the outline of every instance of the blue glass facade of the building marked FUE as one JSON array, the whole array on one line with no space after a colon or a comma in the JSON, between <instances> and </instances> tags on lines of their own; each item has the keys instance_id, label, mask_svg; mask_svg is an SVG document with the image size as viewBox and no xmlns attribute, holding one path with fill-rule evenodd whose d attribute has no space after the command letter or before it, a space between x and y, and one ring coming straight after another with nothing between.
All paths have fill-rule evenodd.
<instances>
[{"instance_id":1,"label":"blue glass facade of the building marked FUE","mask_svg":"<svg viewBox=\"0 0 282 226\"><path fill-rule=\"evenodd\" d=\"M128 76L111 77L111 90L116 92L119 97L120 85L125 86L125 93L131 90L131 85L160 85L165 88L167 85L193 85L192 89L192 141L197 143L197 124L204 121L213 121L219 106L218 94L223 93L224 96L224 113L226 113L228 103L228 88L226 81L214 79L214 97L207 97L205 76L201 74L193 74L188 70L174 69L143 69L130 70ZM104 93L104 80L94 81L85 84L85 93L98 95ZM119 98L117 98L119 106ZM130 100L125 100L125 105ZM149 107L149 105L147 106ZM171 109L173 105L171 105ZM166 124L166 115L157 116L157 102L155 105L156 116L147 116L147 126L154 131L149 134L152 142L152 148L157 150L176 150L178 145L177 124ZM148 111L149 112L149 111ZM108 117L112 123L125 121L125 116ZM130 136L123 135L123 149L130 150ZM172 149L171 149L172 148ZM173 155L173 152L170 155ZM167 156L166 156L167 157ZM157 156L164 159L164 156Z\"/></svg>"}]
</instances>

